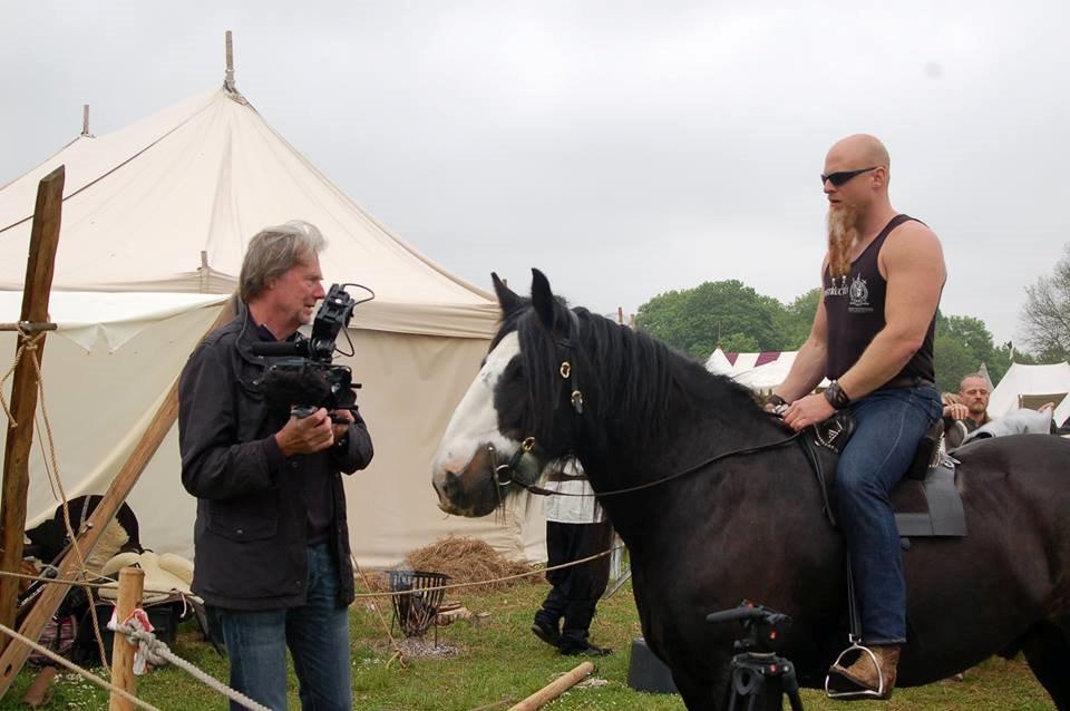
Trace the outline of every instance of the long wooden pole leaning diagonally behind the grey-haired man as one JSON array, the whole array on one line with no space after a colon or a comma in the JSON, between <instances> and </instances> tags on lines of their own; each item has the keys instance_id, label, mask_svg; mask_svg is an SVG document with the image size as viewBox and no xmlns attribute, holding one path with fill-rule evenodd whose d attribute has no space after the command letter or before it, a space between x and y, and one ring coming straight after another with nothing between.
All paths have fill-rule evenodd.
<instances>
[{"instance_id":1,"label":"long wooden pole leaning diagonally behind the grey-haired man","mask_svg":"<svg viewBox=\"0 0 1070 711\"><path fill-rule=\"evenodd\" d=\"M215 322L208 327L207 333L211 333L220 325L233 319L234 306L234 299L228 300L226 305L224 305L223 310L220 312L218 318L216 318ZM164 398L163 405L159 406L156 415L148 423L148 428L145 430L145 434L142 435L142 439L134 447L134 451L130 452L129 459L126 460L126 464L123 465L123 468L115 476L115 479L111 480L111 485L108 487L108 490L100 499L100 503L97 504L97 507L93 510L93 515L89 516L89 520L87 522L87 530L78 538L78 547L82 555L88 556L93 551L93 547L96 545L100 534L104 532L108 523L110 523L110 520L115 517L115 514L119 510L119 506L123 505L123 501L126 500L130 489L133 489L134 485L137 483L137 478L142 475L142 471L145 470L145 467L148 465L148 460L153 458L154 454L156 454L156 449L159 448L159 442L162 442L164 437L167 436L167 432L171 431L171 428L174 426L177 418L178 379L175 378L175 382L171 386L171 390ZM71 577L78 572L78 556L71 548L68 551L67 555L64 556L64 559L57 565L59 569L57 577L61 579L71 579ZM22 626L19 627L19 632L31 640L39 639L41 636L41 631L45 629L45 625L48 623L48 621L51 620L52 615L56 614L56 610L64 601L64 597L67 596L69 588L69 585L62 585L59 583L51 583L47 585L45 591L37 598L37 602L33 604L33 608L30 610L30 612L26 615L26 619L22 621ZM8 689L11 688L11 683L14 681L16 674L18 674L19 670L22 669L22 665L26 663L26 659L29 655L30 647L16 642L8 644L8 649L6 649L3 654L0 655L0 699L8 693Z\"/></svg>"}]
</instances>

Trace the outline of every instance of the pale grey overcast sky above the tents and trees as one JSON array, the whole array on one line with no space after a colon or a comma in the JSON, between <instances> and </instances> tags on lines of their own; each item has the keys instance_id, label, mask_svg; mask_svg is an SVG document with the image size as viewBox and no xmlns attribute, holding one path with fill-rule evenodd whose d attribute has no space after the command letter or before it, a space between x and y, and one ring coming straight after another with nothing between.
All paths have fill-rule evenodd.
<instances>
[{"instance_id":1,"label":"pale grey overcast sky above the tents and trees","mask_svg":"<svg viewBox=\"0 0 1070 711\"><path fill-rule=\"evenodd\" d=\"M261 115L479 286L537 266L601 312L723 279L790 301L818 281L825 153L865 132L943 242L944 313L1005 341L1070 242L1068 7L9 2L0 184L82 104L101 135L218 86L230 29Z\"/></svg>"}]
</instances>

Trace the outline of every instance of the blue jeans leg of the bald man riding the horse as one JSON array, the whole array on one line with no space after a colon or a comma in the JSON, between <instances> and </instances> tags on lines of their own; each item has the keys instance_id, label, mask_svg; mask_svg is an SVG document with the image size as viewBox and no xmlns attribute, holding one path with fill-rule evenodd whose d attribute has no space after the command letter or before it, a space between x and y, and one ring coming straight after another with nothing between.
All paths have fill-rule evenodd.
<instances>
[{"instance_id":1,"label":"blue jeans leg of the bald man riding the horse","mask_svg":"<svg viewBox=\"0 0 1070 711\"><path fill-rule=\"evenodd\" d=\"M906 583L889 495L943 407L931 387L884 388L852 403L855 434L836 466L836 498L866 644L906 642Z\"/></svg>"}]
</instances>

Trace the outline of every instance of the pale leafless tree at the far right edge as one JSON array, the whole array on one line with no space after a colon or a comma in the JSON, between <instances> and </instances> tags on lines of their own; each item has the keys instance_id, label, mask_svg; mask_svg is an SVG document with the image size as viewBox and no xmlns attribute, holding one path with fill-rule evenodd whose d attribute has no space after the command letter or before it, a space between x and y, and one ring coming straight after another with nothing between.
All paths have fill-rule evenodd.
<instances>
[{"instance_id":1,"label":"pale leafless tree at the far right edge","mask_svg":"<svg viewBox=\"0 0 1070 711\"><path fill-rule=\"evenodd\" d=\"M1070 354L1070 244L1064 250L1051 276L1041 276L1025 288L1022 311L1025 342L1049 362Z\"/></svg>"}]
</instances>

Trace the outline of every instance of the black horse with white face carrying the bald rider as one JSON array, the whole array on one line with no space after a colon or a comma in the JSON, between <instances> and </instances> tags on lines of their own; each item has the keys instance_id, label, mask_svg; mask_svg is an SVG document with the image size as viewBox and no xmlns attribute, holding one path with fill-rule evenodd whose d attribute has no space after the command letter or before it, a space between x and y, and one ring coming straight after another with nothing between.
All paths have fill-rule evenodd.
<instances>
[{"instance_id":1,"label":"black horse with white face carrying the bald rider","mask_svg":"<svg viewBox=\"0 0 1070 711\"><path fill-rule=\"evenodd\" d=\"M494 283L503 323L436 457L439 506L486 515L575 455L631 552L646 643L689 709L727 704L736 630L703 621L743 598L791 615L782 653L819 688L846 645L846 554L801 448L762 448L786 439L779 420L656 340L570 310L537 271L531 300ZM694 469L746 448L758 450ZM1070 710L1070 442L1006 437L956 456L969 535L903 554L898 683L1023 651Z\"/></svg>"}]
</instances>

